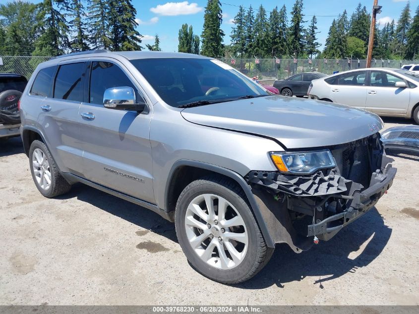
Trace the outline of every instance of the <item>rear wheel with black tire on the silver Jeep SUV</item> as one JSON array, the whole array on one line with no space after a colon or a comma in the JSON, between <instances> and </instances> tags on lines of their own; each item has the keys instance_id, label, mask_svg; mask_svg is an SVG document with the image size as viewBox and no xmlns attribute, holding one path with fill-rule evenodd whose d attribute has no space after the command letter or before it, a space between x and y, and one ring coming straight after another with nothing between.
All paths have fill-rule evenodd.
<instances>
[{"instance_id":1,"label":"rear wheel with black tire on the silver Jeep SUV","mask_svg":"<svg viewBox=\"0 0 419 314\"><path fill-rule=\"evenodd\" d=\"M70 184L60 175L47 145L34 140L29 149L29 166L36 187L45 197L55 197L68 192Z\"/></svg>"}]
</instances>

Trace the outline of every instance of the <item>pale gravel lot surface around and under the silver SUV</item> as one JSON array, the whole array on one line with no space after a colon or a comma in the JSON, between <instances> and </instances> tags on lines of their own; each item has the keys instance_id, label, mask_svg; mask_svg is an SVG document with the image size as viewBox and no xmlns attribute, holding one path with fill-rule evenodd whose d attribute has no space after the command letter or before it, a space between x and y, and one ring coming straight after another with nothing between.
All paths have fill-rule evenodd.
<instances>
[{"instance_id":1,"label":"pale gravel lot surface around and under the silver SUV","mask_svg":"<svg viewBox=\"0 0 419 314\"><path fill-rule=\"evenodd\" d=\"M419 305L419 157L394 159L376 209L310 251L278 246L227 286L193 270L147 209L81 184L41 196L14 138L0 144L0 305Z\"/></svg>"}]
</instances>

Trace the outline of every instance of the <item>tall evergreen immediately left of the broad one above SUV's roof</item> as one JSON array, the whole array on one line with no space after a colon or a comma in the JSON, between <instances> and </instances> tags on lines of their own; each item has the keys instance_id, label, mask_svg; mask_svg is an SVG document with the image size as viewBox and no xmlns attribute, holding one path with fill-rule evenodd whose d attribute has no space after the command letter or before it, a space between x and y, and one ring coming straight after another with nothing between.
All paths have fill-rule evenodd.
<instances>
[{"instance_id":1,"label":"tall evergreen immediately left of the broad one above SUV's roof","mask_svg":"<svg viewBox=\"0 0 419 314\"><path fill-rule=\"evenodd\" d=\"M90 42L93 49L110 49L112 45L109 31L110 7L107 0L91 0L88 6Z\"/></svg>"}]
</instances>

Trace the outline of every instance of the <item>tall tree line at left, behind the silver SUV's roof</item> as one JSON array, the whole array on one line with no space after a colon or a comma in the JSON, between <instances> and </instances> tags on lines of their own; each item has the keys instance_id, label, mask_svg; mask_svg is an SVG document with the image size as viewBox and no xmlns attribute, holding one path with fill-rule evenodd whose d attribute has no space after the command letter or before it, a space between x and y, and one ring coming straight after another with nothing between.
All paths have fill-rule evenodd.
<instances>
[{"instance_id":1,"label":"tall tree line at left, behind the silver SUV's roof","mask_svg":"<svg viewBox=\"0 0 419 314\"><path fill-rule=\"evenodd\" d=\"M87 14L88 12L88 14ZM131 0L13 1L0 5L0 52L56 56L89 49L141 50ZM155 37L149 50L160 50Z\"/></svg>"}]
</instances>

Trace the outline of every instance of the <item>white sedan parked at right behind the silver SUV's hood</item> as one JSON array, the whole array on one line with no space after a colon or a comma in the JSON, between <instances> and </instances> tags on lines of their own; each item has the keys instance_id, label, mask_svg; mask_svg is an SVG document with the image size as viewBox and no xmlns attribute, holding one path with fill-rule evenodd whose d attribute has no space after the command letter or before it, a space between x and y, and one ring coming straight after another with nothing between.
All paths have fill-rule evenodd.
<instances>
[{"instance_id":1,"label":"white sedan parked at right behind the silver SUV's hood","mask_svg":"<svg viewBox=\"0 0 419 314\"><path fill-rule=\"evenodd\" d=\"M396 68L361 68L311 82L307 94L380 116L414 118L419 124L419 75Z\"/></svg>"}]
</instances>

